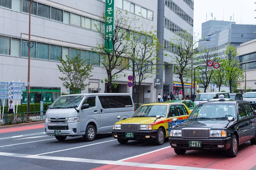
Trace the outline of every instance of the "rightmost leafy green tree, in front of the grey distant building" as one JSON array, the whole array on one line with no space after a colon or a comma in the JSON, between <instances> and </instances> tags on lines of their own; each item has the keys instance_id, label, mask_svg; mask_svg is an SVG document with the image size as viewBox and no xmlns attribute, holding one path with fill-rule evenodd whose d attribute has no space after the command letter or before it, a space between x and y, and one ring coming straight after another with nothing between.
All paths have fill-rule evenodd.
<instances>
[{"instance_id":1,"label":"rightmost leafy green tree, in front of the grey distant building","mask_svg":"<svg viewBox=\"0 0 256 170\"><path fill-rule=\"evenodd\" d=\"M230 85L230 93L232 93L237 88L238 82L244 80L244 71L240 68L239 61L236 59L237 52L233 45L227 46L225 56L227 59L224 63L226 79Z\"/></svg>"}]
</instances>

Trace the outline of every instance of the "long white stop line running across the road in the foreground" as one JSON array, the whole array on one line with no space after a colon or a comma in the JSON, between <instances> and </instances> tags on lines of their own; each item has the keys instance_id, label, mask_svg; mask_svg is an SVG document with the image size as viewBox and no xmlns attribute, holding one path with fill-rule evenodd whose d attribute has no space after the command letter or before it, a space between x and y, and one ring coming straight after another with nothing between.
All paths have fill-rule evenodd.
<instances>
[{"instance_id":1,"label":"long white stop line running across the road in the foreground","mask_svg":"<svg viewBox=\"0 0 256 170\"><path fill-rule=\"evenodd\" d=\"M38 156L38 155L3 153L3 152L0 152L0 156L11 156L11 157L29 158L29 159L46 159L46 160L57 160L57 161L72 161L72 162L83 162L83 163L94 163L94 164L113 164L113 165L120 165L120 166L148 167L148 168L167 169L167 170L216 170L216 169L209 169L209 168L184 167L184 166L176 166L176 165L146 164L146 163L136 163L136 162L108 161L108 160L82 159L82 158L58 157L58 156Z\"/></svg>"}]
</instances>

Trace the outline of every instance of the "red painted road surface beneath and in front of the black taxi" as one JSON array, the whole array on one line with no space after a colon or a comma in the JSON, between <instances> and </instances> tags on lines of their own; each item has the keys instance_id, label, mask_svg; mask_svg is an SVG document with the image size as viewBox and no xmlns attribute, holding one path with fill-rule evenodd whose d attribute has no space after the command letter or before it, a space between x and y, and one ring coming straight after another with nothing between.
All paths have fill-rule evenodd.
<instances>
[{"instance_id":1,"label":"red painted road surface beneath and in front of the black taxi","mask_svg":"<svg viewBox=\"0 0 256 170\"><path fill-rule=\"evenodd\" d=\"M239 146L235 158L225 156L225 152L216 151L187 151L185 155L176 155L173 148L166 148L144 156L125 160L126 162L175 165L189 167L221 169L221 170L250 170L256 166L256 146L247 142ZM160 168L160 167L159 167ZM156 170L132 166L105 165L93 170ZM163 169L162 169L163 170Z\"/></svg>"}]
</instances>

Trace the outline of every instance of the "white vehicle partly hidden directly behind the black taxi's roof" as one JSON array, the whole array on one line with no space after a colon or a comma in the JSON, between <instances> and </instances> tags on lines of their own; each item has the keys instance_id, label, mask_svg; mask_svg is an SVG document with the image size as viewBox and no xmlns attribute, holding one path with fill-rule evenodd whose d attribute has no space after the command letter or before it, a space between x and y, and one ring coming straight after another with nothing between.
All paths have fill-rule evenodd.
<instances>
[{"instance_id":1,"label":"white vehicle partly hidden directly behind the black taxi's roof","mask_svg":"<svg viewBox=\"0 0 256 170\"><path fill-rule=\"evenodd\" d=\"M194 104L198 105L209 101L210 99L218 99L219 95L223 94L225 98L230 98L228 92L209 92L209 93L200 93L195 97Z\"/></svg>"}]
</instances>

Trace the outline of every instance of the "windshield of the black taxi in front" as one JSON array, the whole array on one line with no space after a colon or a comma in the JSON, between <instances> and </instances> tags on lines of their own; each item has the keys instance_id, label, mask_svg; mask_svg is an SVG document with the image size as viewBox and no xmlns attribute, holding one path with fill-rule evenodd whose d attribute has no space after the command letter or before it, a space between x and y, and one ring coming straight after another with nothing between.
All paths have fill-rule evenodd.
<instances>
[{"instance_id":1,"label":"windshield of the black taxi in front","mask_svg":"<svg viewBox=\"0 0 256 170\"><path fill-rule=\"evenodd\" d=\"M188 120L227 120L233 116L236 119L235 105L214 103L210 105L198 105L190 114Z\"/></svg>"}]
</instances>

